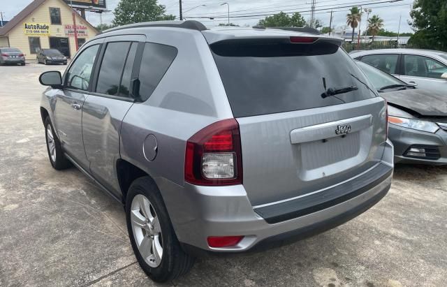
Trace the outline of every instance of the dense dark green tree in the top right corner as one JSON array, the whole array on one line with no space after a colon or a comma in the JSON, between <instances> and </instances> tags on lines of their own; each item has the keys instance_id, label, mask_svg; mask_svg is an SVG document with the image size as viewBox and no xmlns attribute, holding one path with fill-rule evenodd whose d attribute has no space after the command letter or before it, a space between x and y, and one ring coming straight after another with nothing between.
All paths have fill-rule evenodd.
<instances>
[{"instance_id":1,"label":"dense dark green tree in the top right corner","mask_svg":"<svg viewBox=\"0 0 447 287\"><path fill-rule=\"evenodd\" d=\"M447 51L447 1L415 0L409 24L415 31L409 43Z\"/></svg>"}]
</instances>

